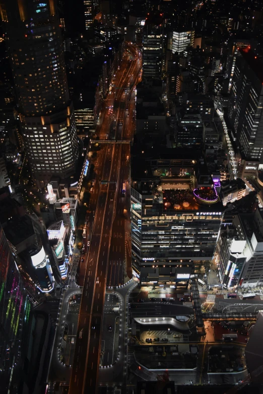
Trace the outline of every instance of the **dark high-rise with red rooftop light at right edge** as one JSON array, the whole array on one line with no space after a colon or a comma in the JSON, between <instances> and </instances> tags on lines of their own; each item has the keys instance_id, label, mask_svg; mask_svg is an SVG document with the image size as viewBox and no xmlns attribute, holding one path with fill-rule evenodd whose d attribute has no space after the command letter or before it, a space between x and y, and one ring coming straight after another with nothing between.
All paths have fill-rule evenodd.
<instances>
[{"instance_id":1,"label":"dark high-rise with red rooftop light at right edge","mask_svg":"<svg viewBox=\"0 0 263 394\"><path fill-rule=\"evenodd\" d=\"M263 63L254 52L236 54L229 116L245 160L263 164Z\"/></svg>"}]
</instances>

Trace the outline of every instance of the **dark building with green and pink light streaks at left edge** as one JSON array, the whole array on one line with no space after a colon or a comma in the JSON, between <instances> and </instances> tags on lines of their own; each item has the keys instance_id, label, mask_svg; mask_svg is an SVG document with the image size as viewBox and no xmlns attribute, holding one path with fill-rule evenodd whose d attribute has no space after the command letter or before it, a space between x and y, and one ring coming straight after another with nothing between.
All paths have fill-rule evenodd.
<instances>
[{"instance_id":1,"label":"dark building with green and pink light streaks at left edge","mask_svg":"<svg viewBox=\"0 0 263 394\"><path fill-rule=\"evenodd\" d=\"M0 225L0 364L1 392L18 392L23 346L31 303Z\"/></svg>"}]
</instances>

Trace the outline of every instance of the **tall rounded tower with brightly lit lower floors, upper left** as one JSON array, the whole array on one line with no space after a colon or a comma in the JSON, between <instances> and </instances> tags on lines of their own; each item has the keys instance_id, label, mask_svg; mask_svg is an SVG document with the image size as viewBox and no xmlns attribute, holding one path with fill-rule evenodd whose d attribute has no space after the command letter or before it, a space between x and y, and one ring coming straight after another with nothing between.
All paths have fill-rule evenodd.
<instances>
[{"instance_id":1,"label":"tall rounded tower with brightly lit lower floors, upper left","mask_svg":"<svg viewBox=\"0 0 263 394\"><path fill-rule=\"evenodd\" d=\"M20 121L38 185L75 172L78 144L54 0L4 0Z\"/></svg>"}]
</instances>

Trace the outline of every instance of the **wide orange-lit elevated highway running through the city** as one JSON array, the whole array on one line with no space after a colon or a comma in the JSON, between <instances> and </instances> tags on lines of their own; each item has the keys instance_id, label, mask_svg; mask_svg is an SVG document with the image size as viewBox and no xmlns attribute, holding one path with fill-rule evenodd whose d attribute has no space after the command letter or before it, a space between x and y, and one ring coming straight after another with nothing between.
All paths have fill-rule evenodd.
<instances>
[{"instance_id":1,"label":"wide orange-lit elevated highway running through the city","mask_svg":"<svg viewBox=\"0 0 263 394\"><path fill-rule=\"evenodd\" d=\"M128 56L132 59L128 60ZM88 218L91 244L86 264L70 394L96 392L108 262L112 259L122 267L125 263L125 237L122 240L124 242L115 243L118 234L116 237L114 234L120 232L125 235L123 207L127 202L121 188L129 177L127 156L130 154L129 143L121 144L117 141L130 140L133 137L133 90L139 81L141 66L141 54L135 46L127 44L120 70L116 73L115 87L106 98L101 113L103 122L98 134L100 139L108 138L108 141L101 144L102 149L98 152L95 164L96 182L91 201L93 209ZM126 111L127 104L129 116ZM113 111L109 110L110 105L113 105ZM111 284L113 281L114 284L116 281L122 282L124 271L125 268L120 268L116 272L116 267L111 267L108 281Z\"/></svg>"}]
</instances>

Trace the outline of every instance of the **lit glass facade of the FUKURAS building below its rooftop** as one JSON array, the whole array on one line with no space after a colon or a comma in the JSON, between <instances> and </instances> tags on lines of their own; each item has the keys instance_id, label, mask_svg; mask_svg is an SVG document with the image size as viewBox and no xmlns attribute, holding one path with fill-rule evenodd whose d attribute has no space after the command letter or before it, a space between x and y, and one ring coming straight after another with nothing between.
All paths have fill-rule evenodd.
<instances>
[{"instance_id":1,"label":"lit glass facade of the FUKURAS building below its rooftop","mask_svg":"<svg viewBox=\"0 0 263 394\"><path fill-rule=\"evenodd\" d=\"M187 204L190 205L186 201ZM135 267L210 262L223 215L219 205L177 211L177 207L165 208L162 199L156 201L153 195L131 188L131 249Z\"/></svg>"}]
</instances>

